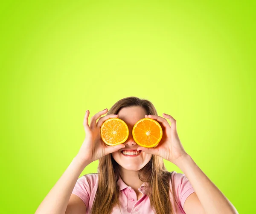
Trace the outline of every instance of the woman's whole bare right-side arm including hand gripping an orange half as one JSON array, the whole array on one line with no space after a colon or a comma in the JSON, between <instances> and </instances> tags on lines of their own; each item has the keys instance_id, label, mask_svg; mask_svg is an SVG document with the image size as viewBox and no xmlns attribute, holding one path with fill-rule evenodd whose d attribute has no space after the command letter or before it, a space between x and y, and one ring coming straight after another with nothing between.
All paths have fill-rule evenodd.
<instances>
[{"instance_id":1,"label":"woman's whole bare right-side arm including hand gripping an orange half","mask_svg":"<svg viewBox=\"0 0 256 214\"><path fill-rule=\"evenodd\" d=\"M186 153L177 133L176 120L169 114L163 115L165 118L145 115L145 118L157 120L163 126L163 138L159 145L156 148L138 147L137 150L163 157L183 171L195 190L184 203L184 211L187 214L238 214L233 204ZM171 122L171 126L166 118Z\"/></svg>"}]
</instances>

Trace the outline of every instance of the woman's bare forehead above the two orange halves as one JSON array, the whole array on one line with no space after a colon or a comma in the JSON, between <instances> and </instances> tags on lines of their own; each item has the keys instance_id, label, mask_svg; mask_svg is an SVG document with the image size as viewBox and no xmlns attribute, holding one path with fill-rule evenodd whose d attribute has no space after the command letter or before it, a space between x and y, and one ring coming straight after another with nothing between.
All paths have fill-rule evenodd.
<instances>
[{"instance_id":1,"label":"woman's bare forehead above the two orange halves","mask_svg":"<svg viewBox=\"0 0 256 214\"><path fill-rule=\"evenodd\" d=\"M137 123L138 120L145 118L145 114L147 114L147 112L143 107L130 106L122 108L118 114L118 118L125 121L127 125L134 126L134 124Z\"/></svg>"}]
</instances>

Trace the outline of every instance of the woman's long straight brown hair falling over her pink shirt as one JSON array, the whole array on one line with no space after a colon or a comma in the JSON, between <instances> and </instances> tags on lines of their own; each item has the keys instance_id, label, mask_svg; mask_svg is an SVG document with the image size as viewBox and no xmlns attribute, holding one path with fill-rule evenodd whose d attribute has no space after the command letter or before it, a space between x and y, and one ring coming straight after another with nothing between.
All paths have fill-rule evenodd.
<instances>
[{"instance_id":1,"label":"woman's long straight brown hair falling over her pink shirt","mask_svg":"<svg viewBox=\"0 0 256 214\"><path fill-rule=\"evenodd\" d=\"M157 115L157 110L149 100L138 97L126 97L117 101L107 114L118 114L121 108L129 106L141 106L147 114ZM173 172L173 171L172 171ZM166 170L163 158L152 155L151 160L139 170L139 179L146 183L145 192L151 203L151 208L156 214L174 214L174 208L170 201L170 192L175 200L173 188L170 188L171 174ZM119 164L111 154L99 159L98 165L99 183L93 202L92 214L110 214L113 208L119 204ZM108 178L108 179L106 179ZM172 183L172 187L173 187ZM175 204L175 203L174 203ZM176 210L176 204L175 204Z\"/></svg>"}]
</instances>

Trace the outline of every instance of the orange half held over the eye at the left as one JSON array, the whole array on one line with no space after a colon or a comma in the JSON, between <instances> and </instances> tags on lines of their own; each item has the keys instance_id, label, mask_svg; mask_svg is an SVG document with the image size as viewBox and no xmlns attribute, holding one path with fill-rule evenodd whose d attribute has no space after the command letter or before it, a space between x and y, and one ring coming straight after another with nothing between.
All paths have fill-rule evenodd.
<instances>
[{"instance_id":1,"label":"orange half held over the eye at the left","mask_svg":"<svg viewBox=\"0 0 256 214\"><path fill-rule=\"evenodd\" d=\"M104 143L109 146L116 146L127 140L129 129L123 120L110 118L100 127L100 135Z\"/></svg>"}]
</instances>

